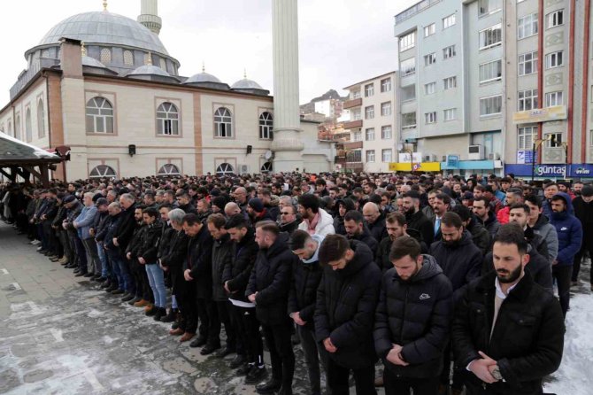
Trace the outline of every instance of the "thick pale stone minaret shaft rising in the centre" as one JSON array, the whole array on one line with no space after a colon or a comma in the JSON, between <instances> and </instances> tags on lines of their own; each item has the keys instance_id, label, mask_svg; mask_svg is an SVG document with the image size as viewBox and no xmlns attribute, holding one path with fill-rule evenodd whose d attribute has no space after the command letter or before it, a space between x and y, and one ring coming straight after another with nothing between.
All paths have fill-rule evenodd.
<instances>
[{"instance_id":1,"label":"thick pale stone minaret shaft rising in the centre","mask_svg":"<svg viewBox=\"0 0 593 395\"><path fill-rule=\"evenodd\" d=\"M272 0L273 171L303 171L298 106L297 0Z\"/></svg>"}]
</instances>

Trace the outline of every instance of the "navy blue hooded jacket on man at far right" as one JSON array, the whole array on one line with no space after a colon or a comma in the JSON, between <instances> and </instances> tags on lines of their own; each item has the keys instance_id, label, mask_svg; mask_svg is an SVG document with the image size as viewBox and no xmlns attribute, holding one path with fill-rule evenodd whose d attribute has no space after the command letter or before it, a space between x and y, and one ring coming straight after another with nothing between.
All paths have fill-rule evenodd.
<instances>
[{"instance_id":1,"label":"navy blue hooded jacket on man at far right","mask_svg":"<svg viewBox=\"0 0 593 395\"><path fill-rule=\"evenodd\" d=\"M551 213L550 223L558 234L558 267L573 265L574 255L581 250L582 226L581 221L573 214L573 202L564 192L558 192L552 199L561 197L566 203L562 213Z\"/></svg>"}]
</instances>

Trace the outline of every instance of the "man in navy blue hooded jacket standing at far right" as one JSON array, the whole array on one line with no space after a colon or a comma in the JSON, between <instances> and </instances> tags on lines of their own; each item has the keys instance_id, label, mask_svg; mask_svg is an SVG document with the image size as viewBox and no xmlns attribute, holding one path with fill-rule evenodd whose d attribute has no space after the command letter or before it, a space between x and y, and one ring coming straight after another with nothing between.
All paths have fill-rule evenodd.
<instances>
[{"instance_id":1,"label":"man in navy blue hooded jacket standing at far right","mask_svg":"<svg viewBox=\"0 0 593 395\"><path fill-rule=\"evenodd\" d=\"M552 262L552 277L558 284L558 297L562 314L566 317L570 299L570 280L573 273L573 260L582 242L581 221L573 213L573 202L564 192L551 198L550 223L558 233L558 256Z\"/></svg>"}]
</instances>

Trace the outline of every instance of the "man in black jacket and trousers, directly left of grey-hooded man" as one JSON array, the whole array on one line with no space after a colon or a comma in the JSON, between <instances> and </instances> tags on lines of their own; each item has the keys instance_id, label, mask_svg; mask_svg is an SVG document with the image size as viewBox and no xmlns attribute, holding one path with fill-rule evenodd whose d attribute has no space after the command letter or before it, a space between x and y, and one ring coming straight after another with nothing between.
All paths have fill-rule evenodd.
<instances>
[{"instance_id":1,"label":"man in black jacket and trousers, directly left of grey-hooded man","mask_svg":"<svg viewBox=\"0 0 593 395\"><path fill-rule=\"evenodd\" d=\"M289 250L288 235L280 233L275 222L258 222L255 235L259 252L245 296L256 305L272 361L272 378L256 385L256 391L290 395L295 353L290 340L292 322L287 312L290 272L297 257Z\"/></svg>"}]
</instances>

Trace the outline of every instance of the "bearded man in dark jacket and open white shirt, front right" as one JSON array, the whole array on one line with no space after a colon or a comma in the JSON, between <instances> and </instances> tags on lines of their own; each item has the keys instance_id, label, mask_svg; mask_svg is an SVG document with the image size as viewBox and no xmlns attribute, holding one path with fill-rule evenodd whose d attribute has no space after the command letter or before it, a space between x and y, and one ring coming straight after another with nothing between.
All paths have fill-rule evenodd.
<instances>
[{"instance_id":1,"label":"bearded man in dark jacket and open white shirt, front right","mask_svg":"<svg viewBox=\"0 0 593 395\"><path fill-rule=\"evenodd\" d=\"M528 242L508 224L494 239L495 270L470 283L455 306L458 366L467 395L541 394L560 365L565 326L553 295L525 275Z\"/></svg>"}]
</instances>

